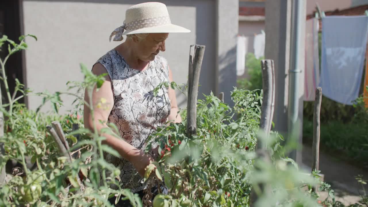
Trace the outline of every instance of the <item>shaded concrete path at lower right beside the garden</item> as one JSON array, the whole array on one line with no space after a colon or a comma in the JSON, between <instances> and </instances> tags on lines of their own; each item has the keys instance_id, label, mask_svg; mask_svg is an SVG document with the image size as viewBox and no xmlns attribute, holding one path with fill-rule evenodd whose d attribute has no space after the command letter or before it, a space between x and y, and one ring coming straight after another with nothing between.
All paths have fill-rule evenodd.
<instances>
[{"instance_id":1,"label":"shaded concrete path at lower right beside the garden","mask_svg":"<svg viewBox=\"0 0 368 207\"><path fill-rule=\"evenodd\" d=\"M311 169L312 148L306 144L303 145L302 162L305 168ZM323 152L319 153L319 170L324 175L324 181L335 190L336 201L350 205L361 200L360 194L364 191L355 176L362 175L363 179L368 180L367 170L340 161ZM365 190L368 191L368 185L365 185ZM326 192L320 192L319 195L321 199L327 197Z\"/></svg>"}]
</instances>

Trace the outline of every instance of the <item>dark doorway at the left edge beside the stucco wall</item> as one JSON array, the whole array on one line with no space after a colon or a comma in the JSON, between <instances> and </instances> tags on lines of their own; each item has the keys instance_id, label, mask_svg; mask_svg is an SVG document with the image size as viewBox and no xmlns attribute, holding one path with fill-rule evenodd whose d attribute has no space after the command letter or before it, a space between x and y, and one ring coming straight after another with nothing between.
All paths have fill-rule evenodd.
<instances>
[{"instance_id":1,"label":"dark doorway at the left edge beside the stucco wall","mask_svg":"<svg viewBox=\"0 0 368 207\"><path fill-rule=\"evenodd\" d=\"M8 36L9 39L19 43L19 36L21 35L21 15L22 15L22 0L0 0L0 37L3 35ZM0 51L0 58L4 60L5 56L8 55L8 44L4 44ZM23 52L17 52L10 56L7 60L5 69L9 85L10 94L13 95L15 87L15 78L20 83L25 84L23 77ZM1 92L3 98L3 104L7 103L6 91L1 81ZM21 95L21 94L17 94ZM24 98L18 102L24 103Z\"/></svg>"}]
</instances>

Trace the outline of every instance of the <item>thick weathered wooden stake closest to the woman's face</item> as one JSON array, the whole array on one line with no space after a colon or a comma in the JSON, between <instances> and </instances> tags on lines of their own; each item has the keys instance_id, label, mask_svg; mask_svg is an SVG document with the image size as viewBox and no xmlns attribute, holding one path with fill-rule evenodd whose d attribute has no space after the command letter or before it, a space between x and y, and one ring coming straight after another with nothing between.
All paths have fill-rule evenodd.
<instances>
[{"instance_id":1,"label":"thick weathered wooden stake closest to the woman's face","mask_svg":"<svg viewBox=\"0 0 368 207\"><path fill-rule=\"evenodd\" d=\"M197 130L197 98L199 74L201 72L204 45L191 45L188 70L188 106L187 106L187 136L190 138Z\"/></svg>"}]
</instances>

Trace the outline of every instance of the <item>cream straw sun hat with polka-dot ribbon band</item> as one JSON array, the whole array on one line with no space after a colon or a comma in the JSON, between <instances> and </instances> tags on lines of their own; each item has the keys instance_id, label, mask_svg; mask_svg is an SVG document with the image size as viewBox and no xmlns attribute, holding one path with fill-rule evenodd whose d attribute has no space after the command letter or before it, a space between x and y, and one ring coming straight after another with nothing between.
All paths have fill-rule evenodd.
<instances>
[{"instance_id":1,"label":"cream straw sun hat with polka-dot ribbon band","mask_svg":"<svg viewBox=\"0 0 368 207\"><path fill-rule=\"evenodd\" d=\"M165 4L147 2L127 9L124 24L111 33L110 41L114 35L114 41L122 41L123 35L180 32L190 32L190 30L171 24Z\"/></svg>"}]
</instances>

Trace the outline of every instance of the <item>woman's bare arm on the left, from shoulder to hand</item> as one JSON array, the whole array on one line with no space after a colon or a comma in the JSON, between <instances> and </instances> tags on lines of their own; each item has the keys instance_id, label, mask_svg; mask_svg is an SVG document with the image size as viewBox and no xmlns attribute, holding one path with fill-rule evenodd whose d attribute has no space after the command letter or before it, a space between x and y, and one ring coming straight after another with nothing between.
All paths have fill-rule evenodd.
<instances>
[{"instance_id":1,"label":"woman's bare arm on the left, from shoulder to hand","mask_svg":"<svg viewBox=\"0 0 368 207\"><path fill-rule=\"evenodd\" d=\"M95 75L100 75L107 73L105 67L102 64L97 63L92 68L92 73ZM106 140L102 142L102 144L107 144L110 147L114 148L121 157L130 161L135 168L137 169L138 173L141 176L144 176L145 168L149 164L151 157L146 155L143 151L138 150L137 148L133 147L131 144L124 141L122 138L117 138L112 136L111 134L101 134L101 129L107 128L107 120L110 115L110 112L114 105L114 97L113 91L111 87L111 79L108 75L105 76L105 82L96 90L96 87L93 89L92 92L92 104L93 104L93 117L91 114L91 110L88 106L84 105L84 127L94 131L94 125L96 126L96 130L100 134L100 136L106 137ZM89 96L87 90L85 91L85 101L89 103ZM105 99L101 105L101 99ZM89 103L91 105L91 103ZM102 123L100 122L102 121Z\"/></svg>"}]
</instances>

